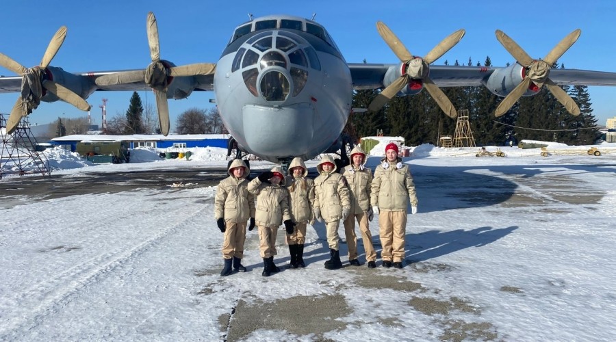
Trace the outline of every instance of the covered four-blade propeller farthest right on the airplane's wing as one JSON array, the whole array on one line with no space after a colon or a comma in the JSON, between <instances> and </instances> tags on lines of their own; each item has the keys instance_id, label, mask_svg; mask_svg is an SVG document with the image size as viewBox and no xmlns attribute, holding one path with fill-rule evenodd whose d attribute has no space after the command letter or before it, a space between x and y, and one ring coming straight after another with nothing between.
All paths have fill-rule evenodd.
<instances>
[{"instance_id":1,"label":"covered four-blade propeller farthest right on the airplane's wing","mask_svg":"<svg viewBox=\"0 0 616 342\"><path fill-rule=\"evenodd\" d=\"M572 33L568 34L556 44L556 47L552 49L543 58L543 60L533 60L524 49L513 41L509 36L504 34L500 29L496 30L496 39L502 44L502 46L509 51L509 53L517 60L517 63L526 68L526 75L522 82L520 82L513 90L500 101L494 115L502 116L506 111L513 106L513 104L528 90L528 87L534 84L537 88L541 89L542 86L548 87L548 90L554 95L556 100L565 106L565 109L574 116L580 115L580 108L576 105L571 96L559 87L550 79L550 69L552 65L567 51L570 47L580 38L582 31L576 29ZM532 83L532 84L531 84Z\"/></svg>"}]
</instances>

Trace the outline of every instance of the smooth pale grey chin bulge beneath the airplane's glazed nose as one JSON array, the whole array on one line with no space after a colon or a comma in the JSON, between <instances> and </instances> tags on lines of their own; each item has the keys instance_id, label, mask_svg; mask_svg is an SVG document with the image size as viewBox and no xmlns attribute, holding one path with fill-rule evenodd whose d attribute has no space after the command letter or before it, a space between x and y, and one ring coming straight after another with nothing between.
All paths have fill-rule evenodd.
<instances>
[{"instance_id":1,"label":"smooth pale grey chin bulge beneath the airplane's glazed nose","mask_svg":"<svg viewBox=\"0 0 616 342\"><path fill-rule=\"evenodd\" d=\"M242 116L244 137L252 153L277 161L279 157L301 157L309 152L313 136L313 107L310 104L285 107L246 105L242 108Z\"/></svg>"}]
</instances>

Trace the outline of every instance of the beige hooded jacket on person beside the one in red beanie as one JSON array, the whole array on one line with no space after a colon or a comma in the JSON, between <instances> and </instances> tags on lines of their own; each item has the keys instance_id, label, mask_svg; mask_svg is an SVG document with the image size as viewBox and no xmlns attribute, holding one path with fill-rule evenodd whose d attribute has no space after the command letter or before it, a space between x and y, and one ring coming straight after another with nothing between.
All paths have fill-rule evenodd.
<instances>
[{"instance_id":1,"label":"beige hooded jacket on person beside the one in red beanie","mask_svg":"<svg viewBox=\"0 0 616 342\"><path fill-rule=\"evenodd\" d=\"M352 155L360 153L363 155L363 163L359 168L353 166ZM370 185L372 184L372 171L369 168L365 168L365 152L361 149L361 146L357 145L350 153L351 165L345 166L342 172L342 176L348 183L348 189L350 190L350 202L352 214L365 213L370 208Z\"/></svg>"}]
</instances>

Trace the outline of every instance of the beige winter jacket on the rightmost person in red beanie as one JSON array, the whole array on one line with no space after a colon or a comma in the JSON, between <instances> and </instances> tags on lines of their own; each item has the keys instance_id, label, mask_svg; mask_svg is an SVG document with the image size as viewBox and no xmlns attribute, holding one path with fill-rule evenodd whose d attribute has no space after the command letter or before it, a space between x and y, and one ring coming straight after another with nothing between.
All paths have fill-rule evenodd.
<instances>
[{"instance_id":1,"label":"beige winter jacket on the rightmost person in red beanie","mask_svg":"<svg viewBox=\"0 0 616 342\"><path fill-rule=\"evenodd\" d=\"M370 204L381 211L407 211L409 201L412 206L418 204L409 166L400 158L391 163L387 158L381 160L374 170L371 190Z\"/></svg>"}]
</instances>

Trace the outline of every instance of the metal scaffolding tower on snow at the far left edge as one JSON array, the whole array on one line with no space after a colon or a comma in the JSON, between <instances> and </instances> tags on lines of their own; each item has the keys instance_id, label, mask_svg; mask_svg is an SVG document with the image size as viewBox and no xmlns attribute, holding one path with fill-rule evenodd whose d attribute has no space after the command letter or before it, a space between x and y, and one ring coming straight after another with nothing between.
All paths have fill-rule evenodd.
<instances>
[{"instance_id":1,"label":"metal scaffolding tower on snow at the far left edge","mask_svg":"<svg viewBox=\"0 0 616 342\"><path fill-rule=\"evenodd\" d=\"M27 117L21 119L11 134L6 133L6 118L0 114L0 179L3 174L37 174L51 176L49 161L36 150Z\"/></svg>"}]
</instances>

